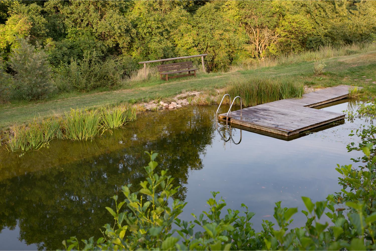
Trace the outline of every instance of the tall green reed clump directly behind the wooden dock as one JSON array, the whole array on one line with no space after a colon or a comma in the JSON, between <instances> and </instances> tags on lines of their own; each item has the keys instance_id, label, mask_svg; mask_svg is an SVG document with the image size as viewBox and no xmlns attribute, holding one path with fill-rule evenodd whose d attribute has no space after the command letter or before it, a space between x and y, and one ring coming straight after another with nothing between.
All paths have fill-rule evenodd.
<instances>
[{"instance_id":1,"label":"tall green reed clump directly behind the wooden dock","mask_svg":"<svg viewBox=\"0 0 376 251\"><path fill-rule=\"evenodd\" d=\"M258 77L230 83L224 93L230 94L232 98L240 96L243 106L248 107L284 98L301 98L304 87L293 78ZM240 105L240 100L237 99L235 104Z\"/></svg>"}]
</instances>

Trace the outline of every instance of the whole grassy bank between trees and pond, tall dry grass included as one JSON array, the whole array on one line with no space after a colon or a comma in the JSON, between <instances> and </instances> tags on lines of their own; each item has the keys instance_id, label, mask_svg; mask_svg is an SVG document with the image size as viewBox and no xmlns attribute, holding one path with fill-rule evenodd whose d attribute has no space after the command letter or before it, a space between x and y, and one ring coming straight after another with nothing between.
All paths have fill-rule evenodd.
<instances>
[{"instance_id":1,"label":"whole grassy bank between trees and pond, tall dry grass included","mask_svg":"<svg viewBox=\"0 0 376 251\"><path fill-rule=\"evenodd\" d=\"M321 75L314 74L315 60L321 60L326 65ZM190 91L214 94L233 82L260 77L276 81L291 77L309 88L324 88L340 84L358 85L365 87L364 91L374 96L376 94L376 85L373 84L376 81L375 65L376 43L363 43L342 47L327 46L315 52L291 54L280 59L265 58L252 67L242 65L226 73L199 73L197 78L173 79L165 82L159 80L157 76L149 76L148 79L122 82L112 91L96 89L90 92L52 95L39 101L7 101L0 104L0 109L3 111L0 114L0 130L6 131L11 126L27 124L35 117L45 119L56 114L64 115L71 108L96 109L122 103L145 105L153 100L170 99Z\"/></svg>"}]
</instances>

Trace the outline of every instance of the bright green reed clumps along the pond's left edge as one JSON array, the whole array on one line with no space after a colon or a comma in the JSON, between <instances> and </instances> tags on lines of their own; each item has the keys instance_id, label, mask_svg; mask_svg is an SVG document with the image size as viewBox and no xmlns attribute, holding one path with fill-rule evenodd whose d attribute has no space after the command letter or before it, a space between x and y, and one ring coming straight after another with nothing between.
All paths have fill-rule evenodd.
<instances>
[{"instance_id":1,"label":"bright green reed clumps along the pond's left edge","mask_svg":"<svg viewBox=\"0 0 376 251\"><path fill-rule=\"evenodd\" d=\"M6 144L8 151L38 150L48 147L52 139L70 139L87 141L100 136L105 131L124 126L127 121L136 119L137 108L119 105L106 109L71 109L61 118L49 118L33 121L28 126L12 127L13 136ZM20 156L21 156L20 155Z\"/></svg>"}]
</instances>

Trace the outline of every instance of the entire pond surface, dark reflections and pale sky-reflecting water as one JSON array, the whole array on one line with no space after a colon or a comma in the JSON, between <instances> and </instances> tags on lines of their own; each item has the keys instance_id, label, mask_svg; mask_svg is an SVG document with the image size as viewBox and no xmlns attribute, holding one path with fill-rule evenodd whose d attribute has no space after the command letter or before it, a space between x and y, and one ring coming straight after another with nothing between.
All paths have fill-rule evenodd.
<instances>
[{"instance_id":1,"label":"entire pond surface, dark reflections and pale sky-reflecting water","mask_svg":"<svg viewBox=\"0 0 376 251\"><path fill-rule=\"evenodd\" d=\"M324 110L356 109L340 101ZM0 249L58 249L70 236L100 237L112 222L106 206L124 184L143 180L144 151L159 153L158 170L169 169L179 185L175 198L188 202L181 218L208 210L210 191L220 191L227 206L246 204L254 227L273 220L274 202L305 209L301 196L324 200L340 191L335 170L361 153L348 153L348 136L364 121L344 121L290 141L242 131L240 144L224 142L216 130L216 106L183 107L139 115L126 128L92 142L55 140L49 148L23 157L0 148ZM226 107L223 107L223 111ZM227 108L228 109L228 108ZM221 133L225 126L219 125ZM226 135L225 135L226 136ZM228 136L227 136L228 137ZM226 138L227 138L226 137ZM232 128L237 143L240 130ZM122 197L120 197L122 198ZM293 226L305 216L297 213Z\"/></svg>"}]
</instances>

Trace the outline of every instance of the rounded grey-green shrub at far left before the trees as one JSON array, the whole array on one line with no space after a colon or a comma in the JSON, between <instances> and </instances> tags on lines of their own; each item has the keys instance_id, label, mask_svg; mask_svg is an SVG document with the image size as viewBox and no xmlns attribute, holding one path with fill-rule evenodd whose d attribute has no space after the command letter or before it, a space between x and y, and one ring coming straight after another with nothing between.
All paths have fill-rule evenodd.
<instances>
[{"instance_id":1,"label":"rounded grey-green shrub at far left before the trees","mask_svg":"<svg viewBox=\"0 0 376 251\"><path fill-rule=\"evenodd\" d=\"M25 39L20 39L20 46L13 49L10 66L15 72L12 88L15 98L37 100L53 92L47 54Z\"/></svg>"}]
</instances>

